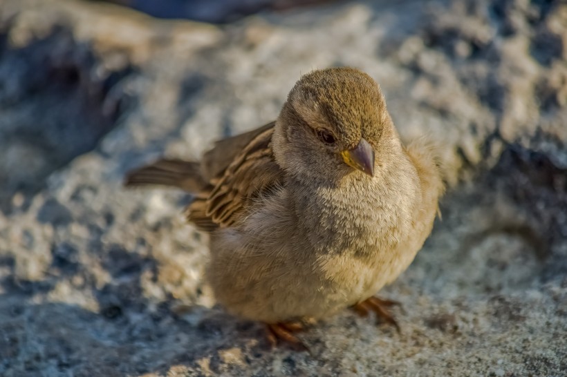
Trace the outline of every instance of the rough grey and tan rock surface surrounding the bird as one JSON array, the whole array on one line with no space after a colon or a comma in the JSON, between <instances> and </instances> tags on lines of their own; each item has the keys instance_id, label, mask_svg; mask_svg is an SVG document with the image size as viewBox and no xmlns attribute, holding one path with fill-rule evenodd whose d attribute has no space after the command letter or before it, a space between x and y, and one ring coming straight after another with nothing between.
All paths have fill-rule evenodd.
<instances>
[{"instance_id":1,"label":"rough grey and tan rock surface surrounding the bird","mask_svg":"<svg viewBox=\"0 0 567 377\"><path fill-rule=\"evenodd\" d=\"M443 221L394 284L402 334L350 311L267 351L214 306L189 198L130 168L274 119L302 72L357 66L400 134L443 145ZM0 7L1 376L564 376L567 4L375 1L222 28L72 0Z\"/></svg>"}]
</instances>

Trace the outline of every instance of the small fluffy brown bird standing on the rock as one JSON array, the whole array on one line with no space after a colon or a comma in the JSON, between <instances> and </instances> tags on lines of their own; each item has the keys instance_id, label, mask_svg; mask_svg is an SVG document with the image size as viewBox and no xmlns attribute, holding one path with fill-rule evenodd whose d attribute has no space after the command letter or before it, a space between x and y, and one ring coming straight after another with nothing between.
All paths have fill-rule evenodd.
<instances>
[{"instance_id":1,"label":"small fluffy brown bird standing on the rock","mask_svg":"<svg viewBox=\"0 0 567 377\"><path fill-rule=\"evenodd\" d=\"M301 323L347 307L397 327L395 302L373 295L415 258L444 192L435 148L402 145L380 87L355 68L303 75L275 122L125 184L193 193L187 219L211 233L216 300L297 349Z\"/></svg>"}]
</instances>

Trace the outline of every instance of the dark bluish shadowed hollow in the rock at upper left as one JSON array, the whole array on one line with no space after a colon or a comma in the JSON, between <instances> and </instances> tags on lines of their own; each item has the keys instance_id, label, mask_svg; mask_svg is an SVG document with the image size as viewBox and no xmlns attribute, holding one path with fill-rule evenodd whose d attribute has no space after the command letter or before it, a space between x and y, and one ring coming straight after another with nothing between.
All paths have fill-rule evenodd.
<instances>
[{"instance_id":1,"label":"dark bluish shadowed hollow in the rock at upper left","mask_svg":"<svg viewBox=\"0 0 567 377\"><path fill-rule=\"evenodd\" d=\"M19 41L0 25L0 211L26 202L46 177L91 151L128 104L126 61L108 68L64 26ZM25 167L25 168L24 168ZM22 204L22 203L20 203ZM25 203L23 203L25 204Z\"/></svg>"}]
</instances>

